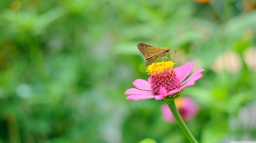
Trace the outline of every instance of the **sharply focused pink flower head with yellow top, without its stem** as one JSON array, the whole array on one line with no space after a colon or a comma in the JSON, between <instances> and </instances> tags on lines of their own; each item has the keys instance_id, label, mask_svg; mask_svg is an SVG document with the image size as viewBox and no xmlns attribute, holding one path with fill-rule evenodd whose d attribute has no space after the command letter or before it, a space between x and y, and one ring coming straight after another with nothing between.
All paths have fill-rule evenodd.
<instances>
[{"instance_id":1,"label":"sharply focused pink flower head with yellow top, without its stem","mask_svg":"<svg viewBox=\"0 0 256 143\"><path fill-rule=\"evenodd\" d=\"M126 97L127 100L141 100L155 98L162 100L167 96L179 94L184 88L192 86L195 81L203 77L201 73L204 71L199 68L187 80L182 82L193 70L194 62L187 62L183 66L172 68L175 63L172 61L154 63L147 68L148 74L151 74L148 81L137 79L133 82L136 88L127 89L125 94L131 96Z\"/></svg>"}]
</instances>

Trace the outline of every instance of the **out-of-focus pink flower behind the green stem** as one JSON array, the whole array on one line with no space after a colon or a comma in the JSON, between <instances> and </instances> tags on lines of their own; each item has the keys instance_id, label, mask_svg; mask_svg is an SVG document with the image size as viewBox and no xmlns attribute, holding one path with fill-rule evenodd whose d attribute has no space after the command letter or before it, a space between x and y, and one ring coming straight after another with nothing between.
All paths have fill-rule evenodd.
<instances>
[{"instance_id":1,"label":"out-of-focus pink flower behind the green stem","mask_svg":"<svg viewBox=\"0 0 256 143\"><path fill-rule=\"evenodd\" d=\"M177 110L180 113L180 116L183 120L187 121L192 119L195 115L198 113L198 107L193 102L192 98L189 97L179 97L175 99L175 103L177 106ZM161 108L163 112L163 118L167 122L176 122L174 115L172 115L172 112L168 105L163 105Z\"/></svg>"}]
</instances>

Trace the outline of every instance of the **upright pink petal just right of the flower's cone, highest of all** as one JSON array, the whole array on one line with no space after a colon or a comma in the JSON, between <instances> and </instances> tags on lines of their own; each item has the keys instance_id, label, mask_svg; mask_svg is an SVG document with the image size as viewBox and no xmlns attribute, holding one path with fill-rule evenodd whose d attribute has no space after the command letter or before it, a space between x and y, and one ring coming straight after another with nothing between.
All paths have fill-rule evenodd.
<instances>
[{"instance_id":1,"label":"upright pink petal just right of the flower's cone, highest of all","mask_svg":"<svg viewBox=\"0 0 256 143\"><path fill-rule=\"evenodd\" d=\"M191 73L193 70L195 62L187 62L183 66L176 67L174 71L179 77L180 83Z\"/></svg>"}]
</instances>

